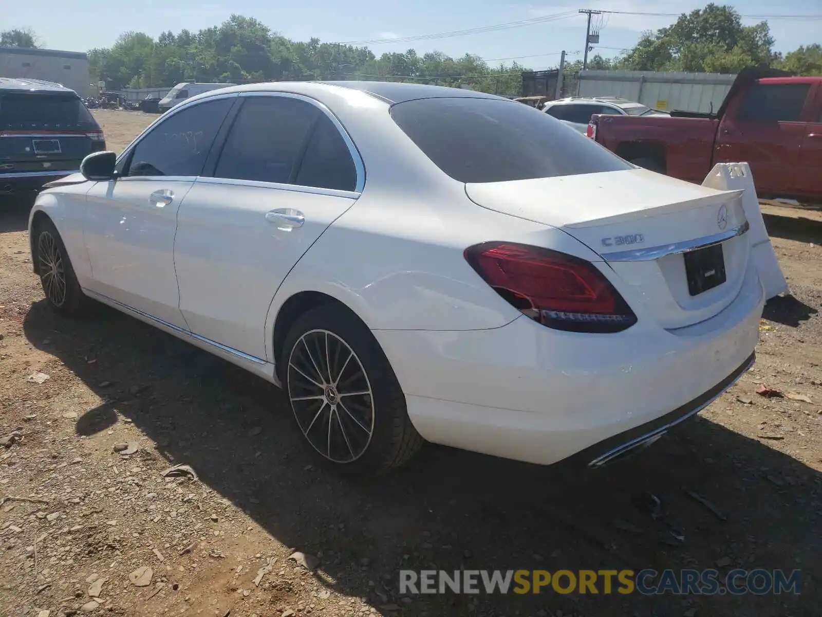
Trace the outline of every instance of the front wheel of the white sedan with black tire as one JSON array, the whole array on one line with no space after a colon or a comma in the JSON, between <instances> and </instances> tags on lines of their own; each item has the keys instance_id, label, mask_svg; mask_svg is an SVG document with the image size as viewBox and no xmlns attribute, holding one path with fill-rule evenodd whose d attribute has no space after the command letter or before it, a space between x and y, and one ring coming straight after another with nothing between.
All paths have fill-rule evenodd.
<instances>
[{"instance_id":1,"label":"front wheel of the white sedan with black tire","mask_svg":"<svg viewBox=\"0 0 822 617\"><path fill-rule=\"evenodd\" d=\"M95 302L81 290L57 227L50 219L42 219L36 223L32 233L35 235L35 255L32 257L37 260L40 284L43 285L48 305L66 317L90 313Z\"/></svg>"}]
</instances>

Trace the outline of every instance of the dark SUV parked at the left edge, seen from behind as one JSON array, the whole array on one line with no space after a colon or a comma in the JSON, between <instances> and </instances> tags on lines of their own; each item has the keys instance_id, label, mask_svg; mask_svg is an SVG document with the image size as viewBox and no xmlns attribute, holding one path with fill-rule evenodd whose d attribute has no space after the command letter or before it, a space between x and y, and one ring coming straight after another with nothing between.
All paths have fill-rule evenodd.
<instances>
[{"instance_id":1,"label":"dark SUV parked at the left edge, seen from behind","mask_svg":"<svg viewBox=\"0 0 822 617\"><path fill-rule=\"evenodd\" d=\"M101 150L103 131L74 90L0 77L0 199L36 193Z\"/></svg>"}]
</instances>

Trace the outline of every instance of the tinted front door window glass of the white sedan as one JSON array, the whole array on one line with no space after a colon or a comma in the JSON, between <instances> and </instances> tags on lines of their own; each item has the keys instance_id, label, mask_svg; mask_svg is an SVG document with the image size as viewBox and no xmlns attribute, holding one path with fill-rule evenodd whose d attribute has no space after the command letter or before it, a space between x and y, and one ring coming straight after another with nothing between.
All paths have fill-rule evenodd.
<instances>
[{"instance_id":1,"label":"tinted front door window glass of the white sedan","mask_svg":"<svg viewBox=\"0 0 822 617\"><path fill-rule=\"evenodd\" d=\"M198 176L234 99L192 105L151 129L135 146L127 176Z\"/></svg>"}]
</instances>

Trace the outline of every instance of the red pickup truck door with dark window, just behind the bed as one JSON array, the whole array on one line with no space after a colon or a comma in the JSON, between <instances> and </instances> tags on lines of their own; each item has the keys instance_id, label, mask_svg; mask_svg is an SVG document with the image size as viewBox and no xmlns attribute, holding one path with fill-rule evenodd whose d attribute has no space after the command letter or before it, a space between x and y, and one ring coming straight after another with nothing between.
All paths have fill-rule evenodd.
<instances>
[{"instance_id":1,"label":"red pickup truck door with dark window, just behind the bed","mask_svg":"<svg viewBox=\"0 0 822 617\"><path fill-rule=\"evenodd\" d=\"M748 163L757 193L794 192L811 81L760 80L728 104L719 124L714 163Z\"/></svg>"}]
</instances>

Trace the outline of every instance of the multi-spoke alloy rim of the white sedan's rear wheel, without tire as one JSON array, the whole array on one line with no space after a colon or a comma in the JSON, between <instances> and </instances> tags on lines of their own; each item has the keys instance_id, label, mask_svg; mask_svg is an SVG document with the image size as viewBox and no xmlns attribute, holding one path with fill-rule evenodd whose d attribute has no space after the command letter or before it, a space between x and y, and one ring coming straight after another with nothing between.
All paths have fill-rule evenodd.
<instances>
[{"instance_id":1,"label":"multi-spoke alloy rim of the white sedan's rear wheel, without tire","mask_svg":"<svg viewBox=\"0 0 822 617\"><path fill-rule=\"evenodd\" d=\"M289 356L291 407L308 443L331 462L356 461L374 432L371 382L357 354L327 330L311 330Z\"/></svg>"}]
</instances>

